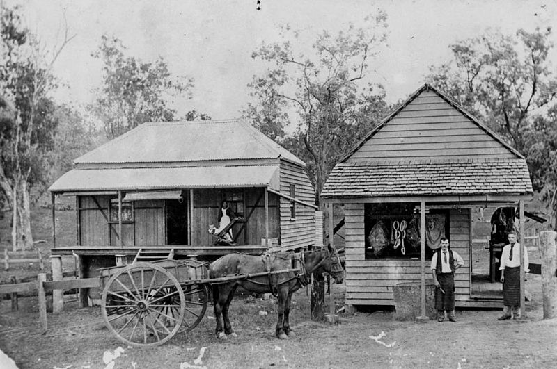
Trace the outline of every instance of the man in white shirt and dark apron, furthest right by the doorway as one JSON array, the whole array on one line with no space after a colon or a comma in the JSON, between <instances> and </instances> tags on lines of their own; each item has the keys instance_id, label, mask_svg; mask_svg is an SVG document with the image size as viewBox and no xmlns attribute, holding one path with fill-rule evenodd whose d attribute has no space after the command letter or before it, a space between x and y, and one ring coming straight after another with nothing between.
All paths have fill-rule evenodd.
<instances>
[{"instance_id":1,"label":"man in white shirt and dark apron, furthest right by the doorway","mask_svg":"<svg viewBox=\"0 0 557 369\"><path fill-rule=\"evenodd\" d=\"M517 235L509 233L509 244L501 253L501 283L503 284L503 315L499 320L520 318L520 243ZM524 272L528 269L528 252L524 247ZM512 314L512 315L511 315Z\"/></svg>"}]
</instances>

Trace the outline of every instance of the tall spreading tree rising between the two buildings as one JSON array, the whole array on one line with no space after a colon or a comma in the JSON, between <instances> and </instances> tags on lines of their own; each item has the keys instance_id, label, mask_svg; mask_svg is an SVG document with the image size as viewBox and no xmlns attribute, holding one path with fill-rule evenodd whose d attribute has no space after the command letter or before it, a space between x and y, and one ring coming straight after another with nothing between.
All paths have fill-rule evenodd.
<instances>
[{"instance_id":1,"label":"tall spreading tree rising between the two buildings","mask_svg":"<svg viewBox=\"0 0 557 369\"><path fill-rule=\"evenodd\" d=\"M312 45L313 54L306 55L295 51L303 43L299 33L286 27L282 42L262 44L253 52L253 58L270 67L253 77L249 87L258 101L244 114L308 163L317 193L338 158L386 110L381 86L368 84L365 91L359 86L366 81L370 58L386 40L385 30L386 15L379 13L367 17L362 28L350 24L337 35L323 31ZM289 109L295 109L299 118L292 136L285 135Z\"/></svg>"}]
</instances>

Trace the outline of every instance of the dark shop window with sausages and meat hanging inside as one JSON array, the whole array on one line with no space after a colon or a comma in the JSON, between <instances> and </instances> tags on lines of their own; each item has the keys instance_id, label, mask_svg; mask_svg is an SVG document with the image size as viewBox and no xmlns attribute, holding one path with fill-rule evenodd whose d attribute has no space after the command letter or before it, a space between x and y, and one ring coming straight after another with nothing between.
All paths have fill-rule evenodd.
<instances>
[{"instance_id":1,"label":"dark shop window with sausages and meat hanging inside","mask_svg":"<svg viewBox=\"0 0 557 369\"><path fill-rule=\"evenodd\" d=\"M366 204L364 209L366 259L420 259L418 204ZM431 259L441 237L448 237L448 211L427 211L425 226L425 257Z\"/></svg>"}]
</instances>

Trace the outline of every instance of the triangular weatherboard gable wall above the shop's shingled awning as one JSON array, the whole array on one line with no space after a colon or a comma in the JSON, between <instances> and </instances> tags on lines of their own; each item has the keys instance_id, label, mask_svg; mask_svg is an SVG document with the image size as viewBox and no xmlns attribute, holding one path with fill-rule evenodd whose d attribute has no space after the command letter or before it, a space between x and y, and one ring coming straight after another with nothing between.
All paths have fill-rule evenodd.
<instances>
[{"instance_id":1,"label":"triangular weatherboard gable wall above the shop's shingled awning","mask_svg":"<svg viewBox=\"0 0 557 369\"><path fill-rule=\"evenodd\" d=\"M399 158L516 158L432 90L424 90L347 162Z\"/></svg>"}]
</instances>

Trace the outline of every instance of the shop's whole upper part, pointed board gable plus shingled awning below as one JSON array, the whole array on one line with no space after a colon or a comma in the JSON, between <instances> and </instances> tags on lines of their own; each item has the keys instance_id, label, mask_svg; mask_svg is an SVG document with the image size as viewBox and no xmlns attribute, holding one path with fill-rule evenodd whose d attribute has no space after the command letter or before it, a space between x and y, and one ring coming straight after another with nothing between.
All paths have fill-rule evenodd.
<instances>
[{"instance_id":1,"label":"shop's whole upper part, pointed board gable plus shingled awning below","mask_svg":"<svg viewBox=\"0 0 557 369\"><path fill-rule=\"evenodd\" d=\"M335 165L321 195L532 192L524 156L446 95L423 85Z\"/></svg>"}]
</instances>

